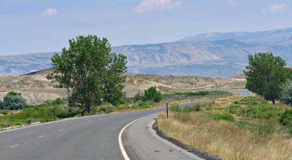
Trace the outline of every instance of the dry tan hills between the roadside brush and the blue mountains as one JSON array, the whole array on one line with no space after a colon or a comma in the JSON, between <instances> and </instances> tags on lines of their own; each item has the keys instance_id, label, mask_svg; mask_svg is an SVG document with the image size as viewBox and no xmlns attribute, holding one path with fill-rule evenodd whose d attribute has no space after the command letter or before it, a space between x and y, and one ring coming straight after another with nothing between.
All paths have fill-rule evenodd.
<instances>
[{"instance_id":1,"label":"dry tan hills between the roadside brush and the blue mountains","mask_svg":"<svg viewBox=\"0 0 292 160\"><path fill-rule=\"evenodd\" d=\"M46 79L51 70L45 69L21 76L0 76L0 98L9 91L22 93L28 104L39 104L46 99L66 97L65 89L54 88L55 83ZM201 88L243 88L245 81L199 76L157 76L127 73L125 89L127 97L155 85L163 93L185 92Z\"/></svg>"}]
</instances>

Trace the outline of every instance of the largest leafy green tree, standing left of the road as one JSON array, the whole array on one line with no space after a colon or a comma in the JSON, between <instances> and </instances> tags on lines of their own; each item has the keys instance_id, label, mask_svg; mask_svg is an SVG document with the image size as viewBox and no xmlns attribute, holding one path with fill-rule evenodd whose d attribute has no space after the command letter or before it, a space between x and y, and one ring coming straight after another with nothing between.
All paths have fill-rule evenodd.
<instances>
[{"instance_id":1,"label":"largest leafy green tree, standing left of the road","mask_svg":"<svg viewBox=\"0 0 292 160\"><path fill-rule=\"evenodd\" d=\"M84 105L90 112L91 105L102 100L115 104L125 96L127 57L111 52L107 38L81 35L70 39L69 45L51 58L54 73L47 78L58 82L56 88L67 89L70 105Z\"/></svg>"}]
</instances>

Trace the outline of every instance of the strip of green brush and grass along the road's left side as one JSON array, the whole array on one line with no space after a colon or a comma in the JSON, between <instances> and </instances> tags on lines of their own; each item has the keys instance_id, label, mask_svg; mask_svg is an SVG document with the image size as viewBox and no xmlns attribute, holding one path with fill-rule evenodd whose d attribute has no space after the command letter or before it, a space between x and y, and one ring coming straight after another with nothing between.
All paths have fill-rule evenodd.
<instances>
[{"instance_id":1,"label":"strip of green brush and grass along the road's left side","mask_svg":"<svg viewBox=\"0 0 292 160\"><path fill-rule=\"evenodd\" d=\"M163 95L163 101L160 103L154 103L151 101L134 102L133 98L126 98L118 106L113 106L108 103L105 103L102 106L93 106L90 113L85 112L83 108L73 108L69 107L65 102L55 102L51 100L45 101L44 104L41 105L26 106L23 110L18 111L0 110L0 129L50 122L54 121L55 119L59 120L70 117L152 109L164 106L166 99L171 105L184 101L218 98L223 96L232 96L232 94L223 91L175 93Z\"/></svg>"}]
</instances>

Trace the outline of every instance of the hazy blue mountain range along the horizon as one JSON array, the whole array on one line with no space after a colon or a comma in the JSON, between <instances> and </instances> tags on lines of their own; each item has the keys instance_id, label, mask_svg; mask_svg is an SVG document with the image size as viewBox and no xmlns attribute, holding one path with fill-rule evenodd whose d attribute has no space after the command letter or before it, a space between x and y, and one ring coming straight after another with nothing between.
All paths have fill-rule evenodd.
<instances>
[{"instance_id":1,"label":"hazy blue mountain range along the horizon","mask_svg":"<svg viewBox=\"0 0 292 160\"><path fill-rule=\"evenodd\" d=\"M112 47L112 51L128 57L129 73L230 78L242 73L249 54L259 51L272 51L291 65L292 28L202 33L169 43ZM48 68L53 54L0 56L0 75Z\"/></svg>"}]
</instances>

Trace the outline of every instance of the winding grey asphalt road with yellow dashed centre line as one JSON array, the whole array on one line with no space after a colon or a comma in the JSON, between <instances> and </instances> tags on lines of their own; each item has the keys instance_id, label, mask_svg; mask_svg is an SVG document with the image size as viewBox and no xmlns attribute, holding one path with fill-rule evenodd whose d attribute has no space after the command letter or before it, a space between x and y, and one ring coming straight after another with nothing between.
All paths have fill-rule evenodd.
<instances>
[{"instance_id":1,"label":"winding grey asphalt road with yellow dashed centre line","mask_svg":"<svg viewBox=\"0 0 292 160\"><path fill-rule=\"evenodd\" d=\"M247 90L225 91L237 92L244 96L250 95ZM193 101L193 103L205 101L208 100ZM190 103L191 102L181 103L180 106L190 105ZM125 159L125 155L130 159L140 159L140 157L141 159L145 159L145 156L148 156L148 153L146 153L146 155L140 155L141 153L138 153L138 157L137 154L129 155L134 154L133 150L129 151L129 148L132 145L129 144L129 142L132 142L132 140L124 141L125 138L123 137L123 134L120 136L121 141L124 144L122 145L123 147L121 151L121 142L119 143L118 138L119 134L129 123L141 117L163 112L165 109L166 107L135 112L94 115L24 128L15 128L12 130L3 130L0 131L0 160L123 160ZM135 125L135 123L132 123L131 125ZM131 125L124 128L127 131L127 134L131 131L129 130ZM142 127L146 128L146 126ZM136 138L139 138L139 136L143 136L143 134L135 135ZM140 140L146 140L146 138L143 137L140 138ZM134 143L133 146L135 146L143 142L132 143ZM157 143L160 143L160 141L157 140ZM148 144L146 144L146 146L147 145ZM164 146L162 146L162 148L163 147ZM149 150L149 152L153 155L148 157L148 159L154 159L156 156L154 152L152 150ZM183 156L186 158L183 154L173 154L176 152L169 153L171 153L171 155L168 157L165 156L165 158L180 158L176 156ZM160 156L164 155L160 154ZM157 158L161 159L161 157ZM188 159L191 158L188 157Z\"/></svg>"}]
</instances>

